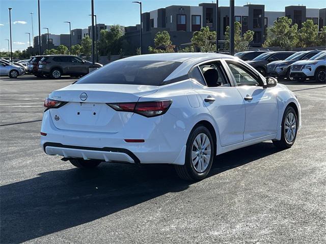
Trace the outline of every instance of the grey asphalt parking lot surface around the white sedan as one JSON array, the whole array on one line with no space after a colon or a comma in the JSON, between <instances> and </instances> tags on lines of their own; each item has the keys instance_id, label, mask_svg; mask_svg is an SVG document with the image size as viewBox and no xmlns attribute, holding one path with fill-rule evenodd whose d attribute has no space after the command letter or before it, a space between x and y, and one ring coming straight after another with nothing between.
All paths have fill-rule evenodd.
<instances>
[{"instance_id":1,"label":"grey asphalt parking lot surface around the white sedan","mask_svg":"<svg viewBox=\"0 0 326 244\"><path fill-rule=\"evenodd\" d=\"M1 243L326 242L326 84L283 82L302 106L292 148L226 153L189 183L171 166L85 172L45 155L44 98L73 81L0 78Z\"/></svg>"}]
</instances>

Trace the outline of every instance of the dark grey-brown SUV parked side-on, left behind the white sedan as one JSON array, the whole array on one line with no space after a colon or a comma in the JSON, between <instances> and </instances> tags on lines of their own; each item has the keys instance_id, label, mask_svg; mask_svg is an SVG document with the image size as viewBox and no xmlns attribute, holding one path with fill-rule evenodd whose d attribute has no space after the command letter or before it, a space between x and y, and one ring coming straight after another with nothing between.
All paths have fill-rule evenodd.
<instances>
[{"instance_id":1,"label":"dark grey-brown SUV parked side-on, left behind the white sedan","mask_svg":"<svg viewBox=\"0 0 326 244\"><path fill-rule=\"evenodd\" d=\"M38 67L39 75L45 75L52 79L58 79L62 75L80 77L88 74L92 63L73 55L47 55L44 56ZM95 68L102 67L95 63Z\"/></svg>"}]
</instances>

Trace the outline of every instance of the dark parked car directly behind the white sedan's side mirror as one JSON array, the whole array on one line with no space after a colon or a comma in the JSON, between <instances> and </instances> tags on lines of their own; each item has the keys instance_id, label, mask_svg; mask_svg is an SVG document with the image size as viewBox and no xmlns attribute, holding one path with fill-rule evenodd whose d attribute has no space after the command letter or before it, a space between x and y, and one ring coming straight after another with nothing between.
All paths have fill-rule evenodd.
<instances>
[{"instance_id":1,"label":"dark parked car directly behind the white sedan's side mirror","mask_svg":"<svg viewBox=\"0 0 326 244\"><path fill-rule=\"evenodd\" d=\"M252 67L259 71L263 76L267 74L267 64L277 60L284 60L295 52L279 51L279 52L266 52L255 57L251 61L247 61Z\"/></svg>"}]
</instances>

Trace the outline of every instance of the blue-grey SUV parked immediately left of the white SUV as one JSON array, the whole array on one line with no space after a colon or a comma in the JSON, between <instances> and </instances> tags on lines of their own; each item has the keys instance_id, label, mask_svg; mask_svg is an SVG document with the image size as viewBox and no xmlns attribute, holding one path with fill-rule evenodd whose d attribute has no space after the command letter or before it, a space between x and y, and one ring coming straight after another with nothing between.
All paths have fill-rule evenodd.
<instances>
[{"instance_id":1,"label":"blue-grey SUV parked immediately left of the white SUV","mask_svg":"<svg viewBox=\"0 0 326 244\"><path fill-rule=\"evenodd\" d=\"M292 80L290 77L291 65L298 60L308 60L319 52L319 50L296 52L284 60L271 62L267 65L267 75L278 79Z\"/></svg>"}]
</instances>

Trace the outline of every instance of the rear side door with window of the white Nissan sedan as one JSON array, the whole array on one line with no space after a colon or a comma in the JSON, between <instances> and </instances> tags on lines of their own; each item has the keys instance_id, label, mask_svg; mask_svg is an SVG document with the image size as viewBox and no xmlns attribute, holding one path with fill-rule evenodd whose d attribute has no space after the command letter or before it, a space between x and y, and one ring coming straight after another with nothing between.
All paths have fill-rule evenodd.
<instances>
[{"instance_id":1,"label":"rear side door with window of the white Nissan sedan","mask_svg":"<svg viewBox=\"0 0 326 244\"><path fill-rule=\"evenodd\" d=\"M215 85L207 77L207 72L211 69L218 72L218 77L213 80ZM222 63L214 61L200 64L191 70L190 75L198 81L198 83L195 82L194 89L199 94L200 102L216 121L221 145L227 146L242 142L245 119L244 102L226 74Z\"/></svg>"}]
</instances>

